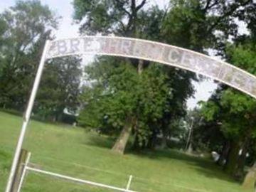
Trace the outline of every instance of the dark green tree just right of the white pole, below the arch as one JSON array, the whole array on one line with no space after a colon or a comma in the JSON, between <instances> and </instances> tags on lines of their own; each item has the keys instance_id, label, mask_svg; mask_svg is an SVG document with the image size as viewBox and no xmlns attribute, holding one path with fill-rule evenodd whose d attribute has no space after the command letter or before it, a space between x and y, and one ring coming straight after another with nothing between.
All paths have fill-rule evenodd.
<instances>
[{"instance_id":1,"label":"dark green tree just right of the white pole, below the arch","mask_svg":"<svg viewBox=\"0 0 256 192\"><path fill-rule=\"evenodd\" d=\"M46 63L35 105L40 119L61 121L64 110L75 114L80 107L81 60L76 57L55 58Z\"/></svg>"}]
</instances>

